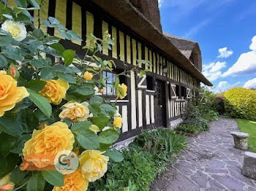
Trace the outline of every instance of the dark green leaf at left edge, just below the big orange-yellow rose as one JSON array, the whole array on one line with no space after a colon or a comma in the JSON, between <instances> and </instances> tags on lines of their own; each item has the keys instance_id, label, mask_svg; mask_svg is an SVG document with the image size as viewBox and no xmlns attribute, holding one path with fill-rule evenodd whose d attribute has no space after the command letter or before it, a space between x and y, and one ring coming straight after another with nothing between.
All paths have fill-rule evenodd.
<instances>
[{"instance_id":1,"label":"dark green leaf at left edge, just below the big orange-yellow rose","mask_svg":"<svg viewBox=\"0 0 256 191\"><path fill-rule=\"evenodd\" d=\"M0 130L10 136L20 136L22 125L13 118L0 117Z\"/></svg>"}]
</instances>

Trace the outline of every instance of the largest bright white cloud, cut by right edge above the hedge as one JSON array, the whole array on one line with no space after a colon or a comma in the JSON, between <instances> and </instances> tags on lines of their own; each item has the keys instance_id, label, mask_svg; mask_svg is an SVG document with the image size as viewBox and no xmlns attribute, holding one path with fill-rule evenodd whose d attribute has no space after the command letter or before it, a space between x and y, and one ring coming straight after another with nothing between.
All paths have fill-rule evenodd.
<instances>
[{"instance_id":1,"label":"largest bright white cloud, cut by right edge above the hedge","mask_svg":"<svg viewBox=\"0 0 256 191\"><path fill-rule=\"evenodd\" d=\"M252 38L252 44L249 46L249 49L252 51L242 53L238 61L225 71L222 77L256 74L256 36Z\"/></svg>"}]
</instances>

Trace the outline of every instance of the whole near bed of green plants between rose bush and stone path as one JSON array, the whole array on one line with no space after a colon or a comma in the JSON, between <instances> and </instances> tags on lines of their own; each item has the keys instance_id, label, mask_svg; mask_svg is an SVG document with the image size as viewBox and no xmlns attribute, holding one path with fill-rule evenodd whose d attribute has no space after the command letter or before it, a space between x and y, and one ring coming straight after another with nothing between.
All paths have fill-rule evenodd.
<instances>
[{"instance_id":1,"label":"whole near bed of green plants between rose bush and stone path","mask_svg":"<svg viewBox=\"0 0 256 191\"><path fill-rule=\"evenodd\" d=\"M124 160L109 163L108 173L89 185L89 190L149 190L150 183L166 170L167 164L186 146L186 138L173 130L143 130L129 149L122 151ZM109 152L105 155L110 156Z\"/></svg>"}]
</instances>

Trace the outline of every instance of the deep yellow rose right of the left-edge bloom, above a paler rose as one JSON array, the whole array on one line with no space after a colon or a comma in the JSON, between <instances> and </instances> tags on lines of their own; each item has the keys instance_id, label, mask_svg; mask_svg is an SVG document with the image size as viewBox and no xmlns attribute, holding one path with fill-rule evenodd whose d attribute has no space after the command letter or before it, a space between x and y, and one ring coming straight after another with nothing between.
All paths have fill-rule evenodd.
<instances>
[{"instance_id":1,"label":"deep yellow rose right of the left-edge bloom, above a paler rose","mask_svg":"<svg viewBox=\"0 0 256 191\"><path fill-rule=\"evenodd\" d=\"M48 80L45 87L39 91L39 93L48 99L51 104L60 104L62 99L66 97L67 90L69 89L69 83L64 82L61 79Z\"/></svg>"}]
</instances>

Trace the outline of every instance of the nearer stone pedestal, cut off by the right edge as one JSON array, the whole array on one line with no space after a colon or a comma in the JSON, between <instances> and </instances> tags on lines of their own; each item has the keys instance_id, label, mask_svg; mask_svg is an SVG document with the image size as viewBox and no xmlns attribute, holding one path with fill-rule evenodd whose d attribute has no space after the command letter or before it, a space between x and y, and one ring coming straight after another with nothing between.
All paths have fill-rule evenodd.
<instances>
[{"instance_id":1,"label":"nearer stone pedestal, cut off by the right edge","mask_svg":"<svg viewBox=\"0 0 256 191\"><path fill-rule=\"evenodd\" d=\"M244 165L242 169L242 174L256 180L256 153L244 153Z\"/></svg>"}]
</instances>

